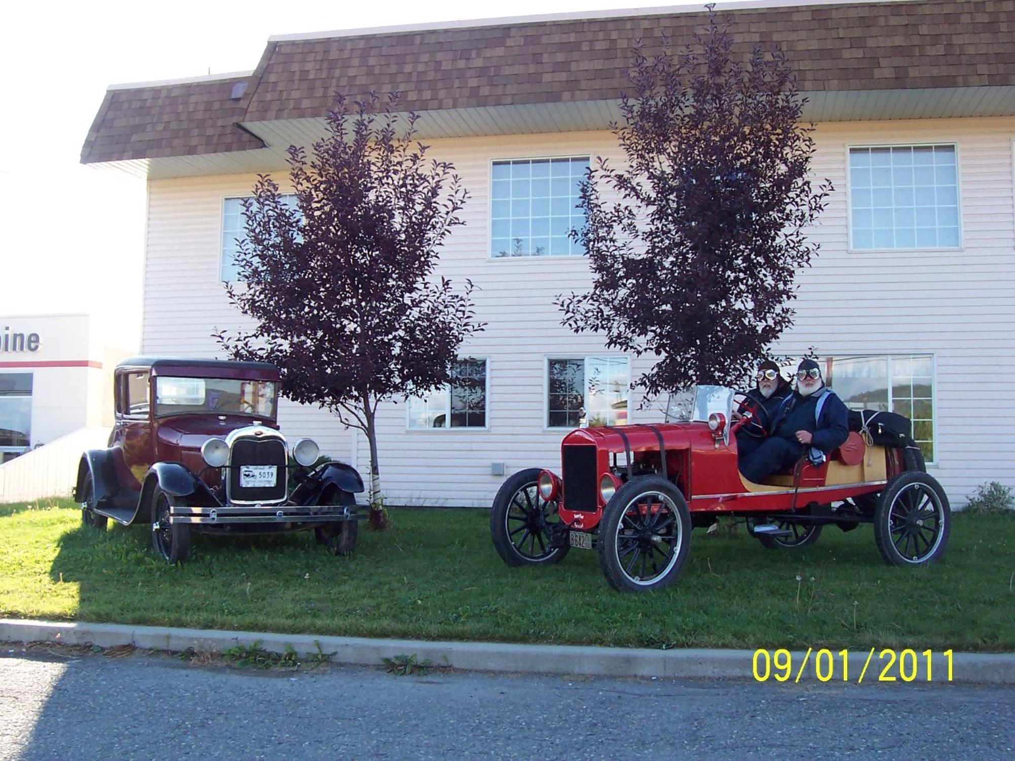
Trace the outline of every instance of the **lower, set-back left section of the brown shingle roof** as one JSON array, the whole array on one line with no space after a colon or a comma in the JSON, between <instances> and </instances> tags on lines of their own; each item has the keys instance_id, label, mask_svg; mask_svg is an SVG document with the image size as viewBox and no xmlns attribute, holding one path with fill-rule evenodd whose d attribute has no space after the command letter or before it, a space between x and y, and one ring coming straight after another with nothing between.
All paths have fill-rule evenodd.
<instances>
[{"instance_id":1,"label":"lower, set-back left section of the brown shingle roof","mask_svg":"<svg viewBox=\"0 0 1015 761\"><path fill-rule=\"evenodd\" d=\"M81 163L192 156L261 148L238 128L232 86L246 76L110 89L81 149Z\"/></svg>"}]
</instances>

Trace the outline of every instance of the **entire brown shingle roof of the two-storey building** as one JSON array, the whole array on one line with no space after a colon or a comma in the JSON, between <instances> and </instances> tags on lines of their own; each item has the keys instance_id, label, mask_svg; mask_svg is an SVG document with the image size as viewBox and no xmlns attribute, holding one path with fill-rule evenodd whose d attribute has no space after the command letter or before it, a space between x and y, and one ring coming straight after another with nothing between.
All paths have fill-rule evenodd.
<instances>
[{"instance_id":1,"label":"entire brown shingle roof of the two-storey building","mask_svg":"<svg viewBox=\"0 0 1015 761\"><path fill-rule=\"evenodd\" d=\"M802 90L1015 85L1015 0L921 0L724 10L735 51L775 44ZM401 108L613 99L635 40L681 44L705 14L532 21L269 43L239 108L231 82L107 94L82 161L260 147L233 122L324 116L339 91L402 93ZM233 80L234 81L234 80ZM188 109L199 107L193 113Z\"/></svg>"}]
</instances>

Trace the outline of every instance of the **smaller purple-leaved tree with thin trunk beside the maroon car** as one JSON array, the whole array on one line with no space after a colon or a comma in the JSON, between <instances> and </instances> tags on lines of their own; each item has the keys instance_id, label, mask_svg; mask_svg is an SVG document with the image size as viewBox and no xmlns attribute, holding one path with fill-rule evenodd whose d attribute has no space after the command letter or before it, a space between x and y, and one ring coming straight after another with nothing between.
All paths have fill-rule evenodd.
<instances>
[{"instance_id":1,"label":"smaller purple-leaved tree with thin trunk beside the maroon car","mask_svg":"<svg viewBox=\"0 0 1015 761\"><path fill-rule=\"evenodd\" d=\"M351 109L338 97L327 134L288 150L294 198L267 175L244 202L239 281L229 300L254 328L216 333L234 359L273 362L282 393L366 436L370 525L386 523L377 411L449 383L462 342L481 331L471 293L434 275L467 193L455 167L426 161L416 116L397 94Z\"/></svg>"}]
</instances>

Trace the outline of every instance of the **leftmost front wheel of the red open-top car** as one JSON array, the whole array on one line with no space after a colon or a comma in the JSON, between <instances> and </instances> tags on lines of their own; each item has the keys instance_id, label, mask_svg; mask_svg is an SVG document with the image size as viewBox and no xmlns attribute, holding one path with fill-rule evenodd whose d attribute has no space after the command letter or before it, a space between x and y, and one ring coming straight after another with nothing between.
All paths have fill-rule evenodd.
<instances>
[{"instance_id":1,"label":"leftmost front wheel of the red open-top car","mask_svg":"<svg viewBox=\"0 0 1015 761\"><path fill-rule=\"evenodd\" d=\"M559 563L570 549L567 545L549 547L553 527L560 518L558 503L548 502L539 494L540 473L539 468L516 473L503 482L493 498L490 538L507 565Z\"/></svg>"}]
</instances>

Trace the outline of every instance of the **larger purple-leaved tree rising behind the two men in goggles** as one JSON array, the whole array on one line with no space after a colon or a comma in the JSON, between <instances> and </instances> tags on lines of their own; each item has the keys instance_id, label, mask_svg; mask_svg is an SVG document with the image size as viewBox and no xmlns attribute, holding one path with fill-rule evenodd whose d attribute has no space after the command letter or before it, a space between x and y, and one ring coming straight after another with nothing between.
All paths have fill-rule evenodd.
<instances>
[{"instance_id":1,"label":"larger purple-leaved tree rising behind the two men in goggles","mask_svg":"<svg viewBox=\"0 0 1015 761\"><path fill-rule=\"evenodd\" d=\"M598 159L581 189L572 234L594 282L557 297L562 323L658 357L635 380L649 396L742 380L793 324L795 275L818 250L805 228L832 188L811 185L805 99L785 55L733 44L709 12L681 52L636 49L613 126L626 165Z\"/></svg>"}]
</instances>

